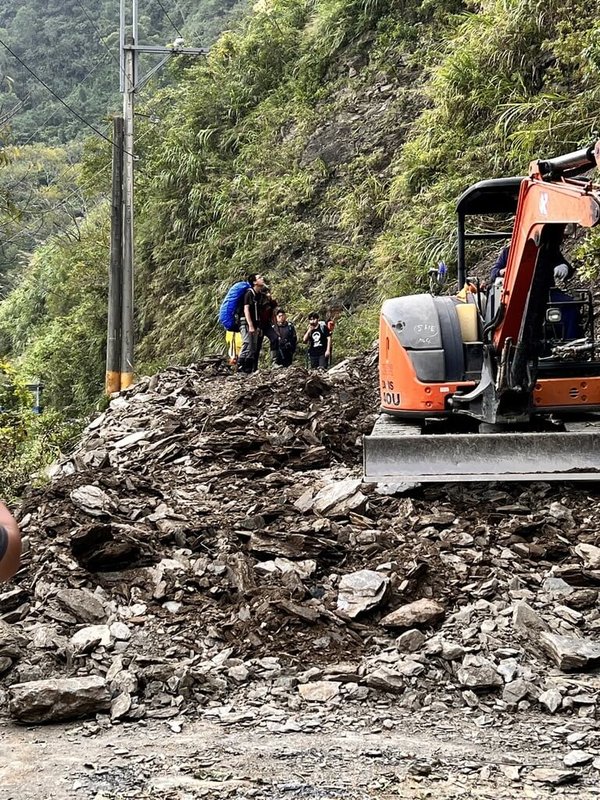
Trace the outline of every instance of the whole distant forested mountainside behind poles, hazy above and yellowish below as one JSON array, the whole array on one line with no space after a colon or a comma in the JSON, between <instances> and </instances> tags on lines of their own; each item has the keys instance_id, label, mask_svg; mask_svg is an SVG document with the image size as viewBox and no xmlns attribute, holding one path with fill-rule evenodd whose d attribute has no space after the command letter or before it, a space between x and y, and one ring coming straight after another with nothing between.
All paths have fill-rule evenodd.
<instances>
[{"instance_id":1,"label":"whole distant forested mountainside behind poles, hazy above and yellowish below","mask_svg":"<svg viewBox=\"0 0 600 800\"><path fill-rule=\"evenodd\" d=\"M125 3L127 11L131 5ZM141 0L139 43L165 45L183 34L189 44L208 45L245 5ZM121 108L118 29L118 0L23 0L18 7L0 0L2 294L18 279L24 255L49 236L78 239L78 220L108 188L110 165L104 181L90 182L82 180L79 161L84 137L110 137L110 117ZM140 74L159 58L142 55ZM153 87L168 81L169 72L161 70ZM152 89L140 98L144 91Z\"/></svg>"}]
</instances>

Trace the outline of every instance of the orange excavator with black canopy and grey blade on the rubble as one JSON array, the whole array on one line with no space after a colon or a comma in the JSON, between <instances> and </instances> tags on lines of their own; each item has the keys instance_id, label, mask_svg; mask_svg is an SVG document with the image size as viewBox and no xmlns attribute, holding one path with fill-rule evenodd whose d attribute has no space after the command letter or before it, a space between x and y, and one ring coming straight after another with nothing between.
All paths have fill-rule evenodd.
<instances>
[{"instance_id":1,"label":"orange excavator with black canopy and grey blade on the rubble","mask_svg":"<svg viewBox=\"0 0 600 800\"><path fill-rule=\"evenodd\" d=\"M593 295L554 285L566 226L600 221L600 185L584 176L599 144L534 161L527 177L471 186L457 204L463 290L439 293L442 265L429 294L383 303L366 480L600 479ZM489 287L469 278L468 245L507 238L503 277Z\"/></svg>"}]
</instances>

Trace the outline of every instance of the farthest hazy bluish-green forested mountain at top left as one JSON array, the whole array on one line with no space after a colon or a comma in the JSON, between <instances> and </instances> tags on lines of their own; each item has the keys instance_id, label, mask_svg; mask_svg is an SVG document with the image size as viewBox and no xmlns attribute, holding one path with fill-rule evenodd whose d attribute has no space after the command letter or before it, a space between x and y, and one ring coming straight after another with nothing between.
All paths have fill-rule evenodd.
<instances>
[{"instance_id":1,"label":"farthest hazy bluish-green forested mountain at top left","mask_svg":"<svg viewBox=\"0 0 600 800\"><path fill-rule=\"evenodd\" d=\"M181 35L190 45L207 46L244 6L245 0L140 0L139 43L165 45ZM0 113L10 119L17 144L89 134L27 68L105 129L121 102L119 0L0 0L0 40Z\"/></svg>"}]
</instances>

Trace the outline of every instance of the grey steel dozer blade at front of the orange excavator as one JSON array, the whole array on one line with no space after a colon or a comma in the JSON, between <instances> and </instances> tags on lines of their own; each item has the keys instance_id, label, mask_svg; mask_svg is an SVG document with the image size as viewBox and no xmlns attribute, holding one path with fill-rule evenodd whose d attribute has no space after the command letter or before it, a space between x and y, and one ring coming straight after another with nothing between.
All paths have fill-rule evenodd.
<instances>
[{"instance_id":1,"label":"grey steel dozer blade at front of the orange excavator","mask_svg":"<svg viewBox=\"0 0 600 800\"><path fill-rule=\"evenodd\" d=\"M436 481L600 480L600 417L565 431L423 433L420 423L381 414L363 439L364 479Z\"/></svg>"}]
</instances>

